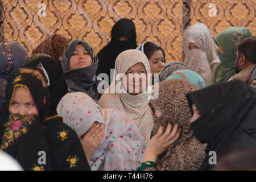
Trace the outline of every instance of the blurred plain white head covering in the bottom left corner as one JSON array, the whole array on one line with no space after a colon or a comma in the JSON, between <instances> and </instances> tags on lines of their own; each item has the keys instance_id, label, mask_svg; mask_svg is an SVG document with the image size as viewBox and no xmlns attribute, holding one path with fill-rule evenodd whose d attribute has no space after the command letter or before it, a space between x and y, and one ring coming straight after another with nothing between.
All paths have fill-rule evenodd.
<instances>
[{"instance_id":1,"label":"blurred plain white head covering in the bottom left corner","mask_svg":"<svg viewBox=\"0 0 256 182\"><path fill-rule=\"evenodd\" d=\"M6 152L0 151L0 171L23 171L14 158Z\"/></svg>"}]
</instances>

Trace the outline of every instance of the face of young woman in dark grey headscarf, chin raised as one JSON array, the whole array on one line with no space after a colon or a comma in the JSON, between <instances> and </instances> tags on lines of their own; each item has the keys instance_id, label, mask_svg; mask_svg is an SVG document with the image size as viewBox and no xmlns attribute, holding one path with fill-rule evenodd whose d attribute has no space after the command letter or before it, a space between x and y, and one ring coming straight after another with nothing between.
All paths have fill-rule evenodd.
<instances>
[{"instance_id":1,"label":"face of young woman in dark grey headscarf, chin raised","mask_svg":"<svg viewBox=\"0 0 256 182\"><path fill-rule=\"evenodd\" d=\"M83 44L77 44L70 59L71 69L85 68L92 65L92 57Z\"/></svg>"}]
</instances>

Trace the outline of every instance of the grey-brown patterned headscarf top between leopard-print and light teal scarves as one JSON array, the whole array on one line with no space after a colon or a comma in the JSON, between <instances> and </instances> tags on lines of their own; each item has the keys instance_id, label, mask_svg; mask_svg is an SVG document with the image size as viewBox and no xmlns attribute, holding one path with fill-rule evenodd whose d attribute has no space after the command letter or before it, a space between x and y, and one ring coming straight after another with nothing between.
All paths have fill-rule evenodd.
<instances>
[{"instance_id":1,"label":"grey-brown patterned headscarf top between leopard-print and light teal scarves","mask_svg":"<svg viewBox=\"0 0 256 182\"><path fill-rule=\"evenodd\" d=\"M172 75L173 72L177 70L182 70L182 69L189 69L189 68L187 67L187 65L181 63L180 61L171 61L165 67L163 67L159 72L159 82L166 80L166 78Z\"/></svg>"}]
</instances>

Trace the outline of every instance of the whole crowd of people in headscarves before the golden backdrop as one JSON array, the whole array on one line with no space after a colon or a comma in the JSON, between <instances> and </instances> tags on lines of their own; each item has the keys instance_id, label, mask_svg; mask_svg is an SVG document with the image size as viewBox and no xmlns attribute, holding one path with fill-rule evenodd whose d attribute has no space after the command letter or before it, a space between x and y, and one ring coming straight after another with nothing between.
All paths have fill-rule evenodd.
<instances>
[{"instance_id":1,"label":"whole crowd of people in headscarves before the golden backdrop","mask_svg":"<svg viewBox=\"0 0 256 182\"><path fill-rule=\"evenodd\" d=\"M183 38L176 61L129 19L97 55L60 34L32 55L0 43L0 169L255 170L256 37L196 23Z\"/></svg>"}]
</instances>

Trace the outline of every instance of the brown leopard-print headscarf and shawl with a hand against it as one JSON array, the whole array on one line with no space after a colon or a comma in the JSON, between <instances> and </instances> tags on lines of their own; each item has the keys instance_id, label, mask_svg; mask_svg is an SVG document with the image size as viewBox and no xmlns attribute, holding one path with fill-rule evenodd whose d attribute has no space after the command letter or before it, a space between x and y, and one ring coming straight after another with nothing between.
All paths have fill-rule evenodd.
<instances>
[{"instance_id":1,"label":"brown leopard-print headscarf and shawl with a hand against it","mask_svg":"<svg viewBox=\"0 0 256 182\"><path fill-rule=\"evenodd\" d=\"M159 97L152 100L152 109L160 109L160 118L154 116L154 128L151 136L158 133L160 126L176 123L181 129L179 139L158 158L158 169L167 171L197 170L203 163L205 144L200 143L190 126L192 117L186 94L197 90L196 86L184 80L166 80L159 82ZM152 104L153 103L153 104Z\"/></svg>"}]
</instances>

